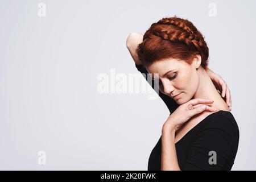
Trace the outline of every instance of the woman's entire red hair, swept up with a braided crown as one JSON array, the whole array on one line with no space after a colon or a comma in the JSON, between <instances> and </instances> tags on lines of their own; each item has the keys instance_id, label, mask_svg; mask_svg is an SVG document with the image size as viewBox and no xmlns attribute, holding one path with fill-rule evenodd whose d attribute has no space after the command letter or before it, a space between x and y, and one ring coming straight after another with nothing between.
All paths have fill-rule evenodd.
<instances>
[{"instance_id":1,"label":"woman's entire red hair, swept up with a braided crown","mask_svg":"<svg viewBox=\"0 0 256 182\"><path fill-rule=\"evenodd\" d=\"M201 66L208 67L209 49L203 35L189 20L176 16L151 24L136 51L143 65L170 58L191 64L200 55Z\"/></svg>"}]
</instances>

